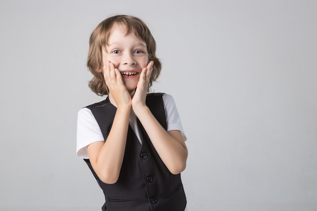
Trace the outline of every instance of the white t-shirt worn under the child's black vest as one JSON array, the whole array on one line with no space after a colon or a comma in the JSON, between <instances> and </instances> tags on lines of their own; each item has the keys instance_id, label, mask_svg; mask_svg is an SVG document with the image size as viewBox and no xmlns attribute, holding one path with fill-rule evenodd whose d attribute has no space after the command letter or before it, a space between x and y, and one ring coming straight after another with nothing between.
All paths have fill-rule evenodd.
<instances>
[{"instance_id":1,"label":"white t-shirt worn under the child's black vest","mask_svg":"<svg viewBox=\"0 0 317 211\"><path fill-rule=\"evenodd\" d=\"M184 141L186 141L186 136L183 131L183 127L180 121L180 117L171 95L163 95L164 109L166 115L167 131L178 130L181 132ZM134 133L137 135L140 143L139 131L137 128L136 115L131 109L130 113L130 126ZM91 143L97 141L105 141L99 125L92 114L91 110L88 108L82 108L78 111L77 115L77 147L76 155L81 158L88 159L87 146Z\"/></svg>"}]
</instances>

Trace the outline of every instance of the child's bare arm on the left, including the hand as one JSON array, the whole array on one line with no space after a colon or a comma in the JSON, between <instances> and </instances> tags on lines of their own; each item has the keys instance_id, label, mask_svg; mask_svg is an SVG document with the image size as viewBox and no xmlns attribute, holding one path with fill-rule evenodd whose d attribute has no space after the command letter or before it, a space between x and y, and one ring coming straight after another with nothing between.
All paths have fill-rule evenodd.
<instances>
[{"instance_id":1,"label":"child's bare arm on the left, including the hand","mask_svg":"<svg viewBox=\"0 0 317 211\"><path fill-rule=\"evenodd\" d=\"M125 154L131 96L124 86L120 72L112 63L104 66L104 77L110 90L110 101L117 107L111 130L105 142L95 142L87 147L90 162L99 179L107 184L115 183L120 175Z\"/></svg>"}]
</instances>

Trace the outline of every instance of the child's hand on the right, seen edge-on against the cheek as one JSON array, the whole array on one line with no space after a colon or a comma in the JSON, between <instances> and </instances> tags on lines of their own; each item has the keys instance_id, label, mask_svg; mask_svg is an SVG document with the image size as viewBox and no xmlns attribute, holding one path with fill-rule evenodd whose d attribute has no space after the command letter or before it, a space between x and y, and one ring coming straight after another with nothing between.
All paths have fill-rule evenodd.
<instances>
[{"instance_id":1,"label":"child's hand on the right, seen edge-on against the cheek","mask_svg":"<svg viewBox=\"0 0 317 211\"><path fill-rule=\"evenodd\" d=\"M145 99L148 90L148 84L150 81L151 73L153 70L153 61L150 61L145 68L142 69L140 74L140 79L132 98L132 107L135 111L136 109L146 106Z\"/></svg>"}]
</instances>

